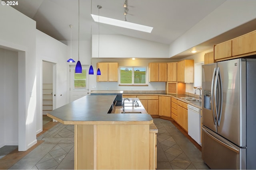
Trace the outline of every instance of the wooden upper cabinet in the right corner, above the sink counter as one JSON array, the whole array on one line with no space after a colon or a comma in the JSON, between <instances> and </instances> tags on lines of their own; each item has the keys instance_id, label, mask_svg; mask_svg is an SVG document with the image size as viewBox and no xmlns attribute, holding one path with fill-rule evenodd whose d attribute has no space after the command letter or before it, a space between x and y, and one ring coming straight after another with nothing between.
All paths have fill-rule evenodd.
<instances>
[{"instance_id":1,"label":"wooden upper cabinet in the right corner, above the sink counter","mask_svg":"<svg viewBox=\"0 0 256 170\"><path fill-rule=\"evenodd\" d=\"M183 83L194 82L194 60L182 60L177 63L177 81Z\"/></svg>"}]
</instances>

